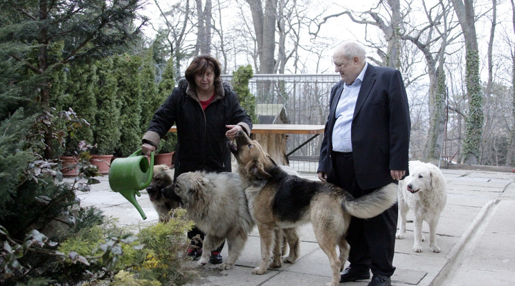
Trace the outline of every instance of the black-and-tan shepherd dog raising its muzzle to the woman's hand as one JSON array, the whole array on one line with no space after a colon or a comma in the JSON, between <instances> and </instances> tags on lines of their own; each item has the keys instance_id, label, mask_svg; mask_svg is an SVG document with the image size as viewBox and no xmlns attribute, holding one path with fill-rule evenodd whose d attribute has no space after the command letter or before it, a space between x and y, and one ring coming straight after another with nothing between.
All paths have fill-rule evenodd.
<instances>
[{"instance_id":1,"label":"black-and-tan shepherd dog raising its muzzle to the woman's hand","mask_svg":"<svg viewBox=\"0 0 515 286\"><path fill-rule=\"evenodd\" d=\"M228 143L235 155L238 172L249 201L249 211L258 226L261 263L253 274L264 274L269 267L274 229L313 225L316 240L332 269L336 286L350 247L345 240L352 216L372 218L397 201L397 184L388 184L368 195L354 199L350 193L328 182L316 182L289 175L271 160L262 146L240 131L236 144ZM336 245L340 256L336 255Z\"/></svg>"}]
</instances>

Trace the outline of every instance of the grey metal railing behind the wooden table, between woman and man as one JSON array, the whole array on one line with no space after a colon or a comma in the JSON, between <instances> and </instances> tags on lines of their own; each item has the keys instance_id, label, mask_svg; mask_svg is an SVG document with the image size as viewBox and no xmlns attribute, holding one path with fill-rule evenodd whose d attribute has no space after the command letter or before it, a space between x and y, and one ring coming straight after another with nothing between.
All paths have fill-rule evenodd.
<instances>
[{"instance_id":1,"label":"grey metal railing behind the wooden table, between woman and man","mask_svg":"<svg viewBox=\"0 0 515 286\"><path fill-rule=\"evenodd\" d=\"M232 75L222 75L231 82ZM325 124L329 114L331 88L340 75L254 75L249 89L256 97L259 123ZM258 122L255 122L258 123ZM291 134L287 153L312 135ZM318 136L289 155L289 164L299 172L316 172L323 136Z\"/></svg>"}]
</instances>

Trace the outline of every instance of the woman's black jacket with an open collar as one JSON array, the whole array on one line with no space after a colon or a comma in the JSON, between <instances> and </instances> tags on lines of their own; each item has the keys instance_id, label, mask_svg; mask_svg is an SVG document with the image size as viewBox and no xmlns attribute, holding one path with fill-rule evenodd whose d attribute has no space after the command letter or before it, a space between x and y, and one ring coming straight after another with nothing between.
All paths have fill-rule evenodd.
<instances>
[{"instance_id":1,"label":"woman's black jacket with an open collar","mask_svg":"<svg viewBox=\"0 0 515 286\"><path fill-rule=\"evenodd\" d=\"M230 172L226 125L240 125L247 135L252 128L251 117L240 106L231 84L222 80L215 84L213 102L204 111L195 88L181 79L152 117L143 142L157 146L174 124L177 126L174 178L189 171Z\"/></svg>"}]
</instances>

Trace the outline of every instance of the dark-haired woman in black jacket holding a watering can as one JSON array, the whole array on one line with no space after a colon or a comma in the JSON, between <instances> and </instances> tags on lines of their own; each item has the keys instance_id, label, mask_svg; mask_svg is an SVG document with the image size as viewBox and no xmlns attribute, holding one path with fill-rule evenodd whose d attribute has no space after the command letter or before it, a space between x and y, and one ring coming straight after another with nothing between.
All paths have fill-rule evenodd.
<instances>
[{"instance_id":1,"label":"dark-haired woman in black jacket holding a watering can","mask_svg":"<svg viewBox=\"0 0 515 286\"><path fill-rule=\"evenodd\" d=\"M231 153L227 142L241 130L250 135L251 117L240 106L231 85L222 82L220 64L214 57L195 57L186 69L185 77L152 117L141 149L145 155L150 155L175 124L174 179L189 171L230 172ZM197 235L204 239L204 233L197 227L188 231L190 240ZM197 258L202 249L193 241L188 247L188 255ZM210 263L222 263L219 252L223 246L211 251Z\"/></svg>"}]
</instances>

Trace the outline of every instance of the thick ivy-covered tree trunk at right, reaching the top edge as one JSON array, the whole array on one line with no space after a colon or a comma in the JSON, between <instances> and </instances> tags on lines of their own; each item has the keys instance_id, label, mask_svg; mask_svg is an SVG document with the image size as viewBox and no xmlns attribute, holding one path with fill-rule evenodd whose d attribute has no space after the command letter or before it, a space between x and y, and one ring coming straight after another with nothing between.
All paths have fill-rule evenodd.
<instances>
[{"instance_id":1,"label":"thick ivy-covered tree trunk at right, reaching the top edge","mask_svg":"<svg viewBox=\"0 0 515 286\"><path fill-rule=\"evenodd\" d=\"M474 14L473 0L450 1L453 3L454 11L458 16L458 21L460 21L465 39L465 64L467 66L465 77L467 98L469 99L469 113L467 115L467 126L465 127L463 162L467 164L478 164L485 116L482 111L483 100L479 82L479 50L475 24L476 15Z\"/></svg>"}]
</instances>

